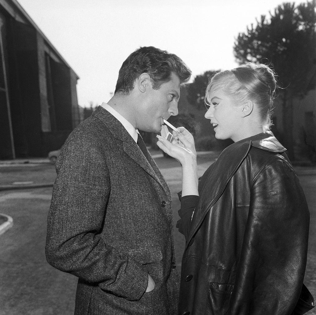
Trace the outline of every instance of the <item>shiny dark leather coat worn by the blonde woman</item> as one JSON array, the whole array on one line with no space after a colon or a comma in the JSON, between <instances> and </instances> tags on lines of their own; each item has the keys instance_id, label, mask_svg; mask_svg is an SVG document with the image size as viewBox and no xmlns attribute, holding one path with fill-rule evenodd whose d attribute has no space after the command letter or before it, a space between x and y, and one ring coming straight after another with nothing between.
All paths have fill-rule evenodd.
<instances>
[{"instance_id":1,"label":"shiny dark leather coat worn by the blonde woman","mask_svg":"<svg viewBox=\"0 0 316 315\"><path fill-rule=\"evenodd\" d=\"M204 173L186 236L180 315L289 315L304 279L309 210L271 132L230 145Z\"/></svg>"}]
</instances>

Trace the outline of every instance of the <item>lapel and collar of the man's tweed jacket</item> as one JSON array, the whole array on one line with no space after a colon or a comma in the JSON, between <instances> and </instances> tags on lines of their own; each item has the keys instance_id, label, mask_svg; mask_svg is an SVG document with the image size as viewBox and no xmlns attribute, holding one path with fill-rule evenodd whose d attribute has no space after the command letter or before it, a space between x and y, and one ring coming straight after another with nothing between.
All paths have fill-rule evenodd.
<instances>
[{"instance_id":1,"label":"lapel and collar of the man's tweed jacket","mask_svg":"<svg viewBox=\"0 0 316 315\"><path fill-rule=\"evenodd\" d=\"M148 152L149 159L147 160L142 150L138 147L137 143L126 131L124 126L102 106L99 106L94 111L93 115L106 124L112 135L122 143L124 152L140 167L142 167L153 179L155 179L168 195L170 193L168 185L150 153Z\"/></svg>"}]
</instances>

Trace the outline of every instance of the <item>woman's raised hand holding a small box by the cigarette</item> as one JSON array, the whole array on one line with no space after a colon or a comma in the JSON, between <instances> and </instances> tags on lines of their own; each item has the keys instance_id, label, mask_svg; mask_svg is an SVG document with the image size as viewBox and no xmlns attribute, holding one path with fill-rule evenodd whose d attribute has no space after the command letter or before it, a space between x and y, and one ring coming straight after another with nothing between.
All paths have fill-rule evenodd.
<instances>
[{"instance_id":1,"label":"woman's raised hand holding a small box by the cigarette","mask_svg":"<svg viewBox=\"0 0 316 315\"><path fill-rule=\"evenodd\" d=\"M191 133L184 127L177 128L180 132L179 134L173 131L173 140L170 143L168 140L161 136L157 142L159 148L162 151L177 159L182 166L186 163L192 163L196 161L196 150L194 146L194 138Z\"/></svg>"}]
</instances>

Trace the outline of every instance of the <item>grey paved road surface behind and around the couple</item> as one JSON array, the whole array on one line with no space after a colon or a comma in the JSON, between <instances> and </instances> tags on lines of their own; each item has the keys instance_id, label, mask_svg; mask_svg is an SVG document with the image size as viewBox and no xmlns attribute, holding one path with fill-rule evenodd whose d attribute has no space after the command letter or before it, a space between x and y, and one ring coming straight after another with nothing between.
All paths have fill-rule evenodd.
<instances>
[{"instance_id":1,"label":"grey paved road surface behind and around the couple","mask_svg":"<svg viewBox=\"0 0 316 315\"><path fill-rule=\"evenodd\" d=\"M199 173L206 169L207 156L199 160ZM167 179L173 196L174 224L178 219L179 201L176 193L180 190L178 162L158 158L158 166ZM26 174L32 181L52 179L53 168L47 166L15 167L0 170L1 180L25 181ZM34 172L38 175L34 176ZM11 176L3 177L3 174ZM311 212L310 242L305 283L316 297L316 175L301 172L300 180ZM51 188L0 191L0 213L10 215L14 226L0 235L0 315L70 315L74 310L77 278L60 272L46 263L45 238L46 219L51 198ZM174 231L177 254L177 268L180 271L184 239L177 229ZM316 314L309 312L308 314Z\"/></svg>"}]
</instances>

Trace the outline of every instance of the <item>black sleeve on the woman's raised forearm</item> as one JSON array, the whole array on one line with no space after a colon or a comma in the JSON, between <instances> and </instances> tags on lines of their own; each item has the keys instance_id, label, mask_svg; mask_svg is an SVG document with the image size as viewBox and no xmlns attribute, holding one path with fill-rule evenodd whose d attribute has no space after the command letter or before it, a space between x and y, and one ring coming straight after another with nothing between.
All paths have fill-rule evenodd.
<instances>
[{"instance_id":1,"label":"black sleeve on the woman's raised forearm","mask_svg":"<svg viewBox=\"0 0 316 315\"><path fill-rule=\"evenodd\" d=\"M193 211L199 199L200 197L195 195L184 196L180 199L181 209L178 211L180 220L177 222L176 227L179 229L179 232L185 236L186 240L189 236Z\"/></svg>"}]
</instances>

